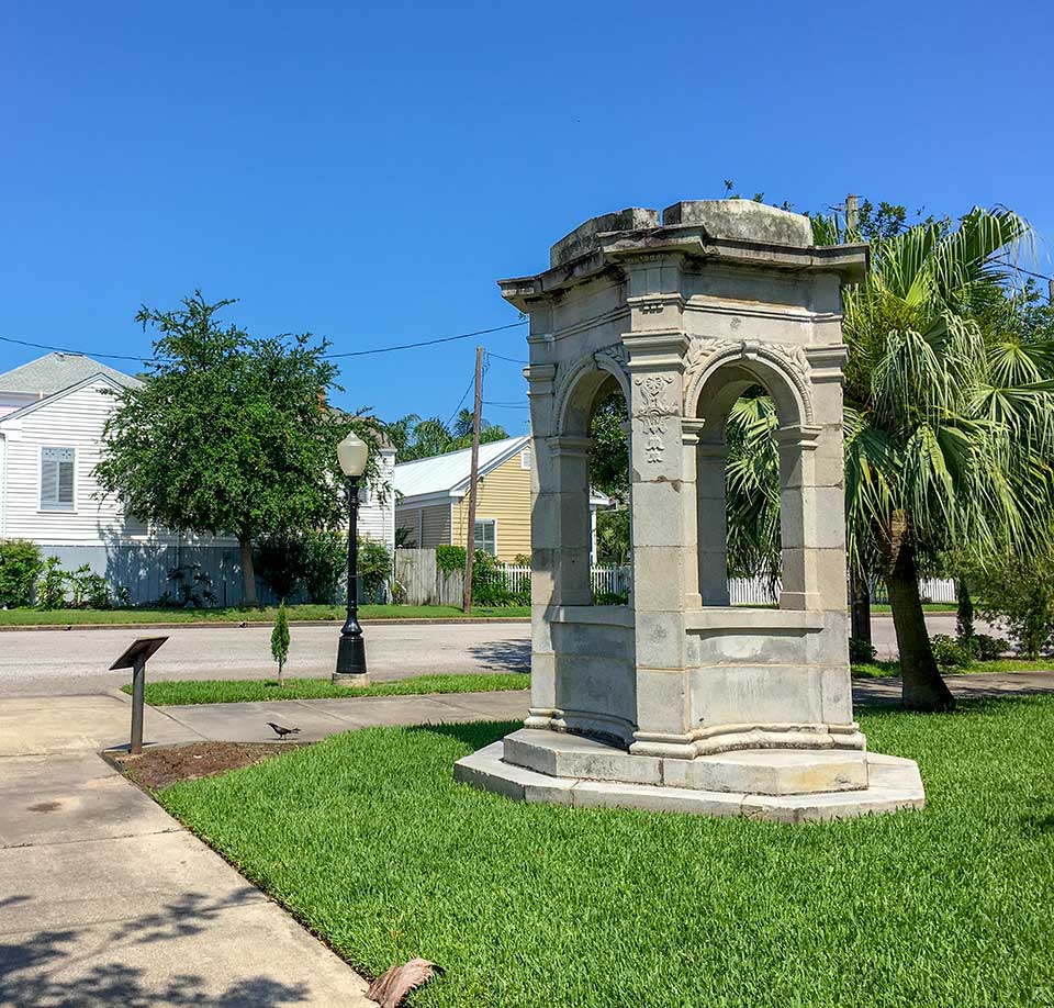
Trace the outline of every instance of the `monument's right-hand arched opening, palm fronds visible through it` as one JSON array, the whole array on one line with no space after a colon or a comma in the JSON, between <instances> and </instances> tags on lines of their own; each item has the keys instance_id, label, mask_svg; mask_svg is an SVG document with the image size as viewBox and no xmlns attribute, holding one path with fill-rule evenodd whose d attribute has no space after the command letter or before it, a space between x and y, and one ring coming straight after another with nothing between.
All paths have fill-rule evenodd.
<instances>
[{"instance_id":1,"label":"monument's right-hand arched opening, palm fronds visible through it","mask_svg":"<svg viewBox=\"0 0 1054 1008\"><path fill-rule=\"evenodd\" d=\"M704 605L804 608L807 404L773 362L733 358L699 382L698 572Z\"/></svg>"}]
</instances>

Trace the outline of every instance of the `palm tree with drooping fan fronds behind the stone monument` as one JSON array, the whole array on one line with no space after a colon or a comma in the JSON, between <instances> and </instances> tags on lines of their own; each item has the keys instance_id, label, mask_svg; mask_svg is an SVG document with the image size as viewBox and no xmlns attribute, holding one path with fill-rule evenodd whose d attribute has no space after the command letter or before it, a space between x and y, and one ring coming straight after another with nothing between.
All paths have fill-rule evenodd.
<instances>
[{"instance_id":1,"label":"palm tree with drooping fan fronds behind the stone monument","mask_svg":"<svg viewBox=\"0 0 1054 1008\"><path fill-rule=\"evenodd\" d=\"M845 237L830 220L815 222L815 234ZM919 224L873 243L866 282L844 298L849 560L886 579L904 703L918 709L953 706L926 629L920 572L951 552L980 562L1028 556L1043 545L1031 530L1050 527L1054 346L1022 338L991 307L1006 306L1003 322L1012 314L1000 260L1029 237L1002 209L974 210L956 228ZM748 547L773 557L778 531L758 520L774 507L772 423L742 403L729 426L743 453L727 478L729 519L750 522ZM741 533L730 530L730 546Z\"/></svg>"}]
</instances>

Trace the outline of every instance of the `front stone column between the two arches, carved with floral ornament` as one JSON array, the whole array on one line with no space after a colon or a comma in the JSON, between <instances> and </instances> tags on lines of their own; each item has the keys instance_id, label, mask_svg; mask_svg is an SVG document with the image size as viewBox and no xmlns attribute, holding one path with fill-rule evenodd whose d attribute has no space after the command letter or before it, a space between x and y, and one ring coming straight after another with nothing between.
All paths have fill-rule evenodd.
<instances>
[{"instance_id":1,"label":"front stone column between the two arches, carved with floral ornament","mask_svg":"<svg viewBox=\"0 0 1054 1008\"><path fill-rule=\"evenodd\" d=\"M687 338L624 337L631 385L630 473L637 730L633 753L691 757L687 746L682 376Z\"/></svg>"}]
</instances>

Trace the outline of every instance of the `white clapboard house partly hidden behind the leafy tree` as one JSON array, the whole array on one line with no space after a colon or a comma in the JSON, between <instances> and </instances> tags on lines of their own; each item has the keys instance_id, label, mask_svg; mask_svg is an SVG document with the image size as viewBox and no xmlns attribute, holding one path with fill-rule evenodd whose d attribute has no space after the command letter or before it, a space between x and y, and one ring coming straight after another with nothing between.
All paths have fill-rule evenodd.
<instances>
[{"instance_id":1,"label":"white clapboard house partly hidden behind the leafy tree","mask_svg":"<svg viewBox=\"0 0 1054 1008\"><path fill-rule=\"evenodd\" d=\"M221 604L242 600L237 541L147 528L101 496L94 467L114 408L112 393L138 379L79 354L48 354L0 374L0 539L30 539L67 570L88 563L133 602L170 591L168 572L199 563ZM380 479L391 485L395 451ZM383 503L381 497L385 497ZM363 490L362 535L394 547L394 494Z\"/></svg>"}]
</instances>

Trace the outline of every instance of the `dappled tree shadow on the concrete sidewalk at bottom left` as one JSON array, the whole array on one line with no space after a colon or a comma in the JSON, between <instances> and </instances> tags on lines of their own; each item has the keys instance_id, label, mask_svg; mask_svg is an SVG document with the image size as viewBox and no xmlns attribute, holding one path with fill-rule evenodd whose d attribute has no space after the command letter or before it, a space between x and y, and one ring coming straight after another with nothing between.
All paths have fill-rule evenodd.
<instances>
[{"instance_id":1,"label":"dappled tree shadow on the concrete sidewalk at bottom left","mask_svg":"<svg viewBox=\"0 0 1054 1008\"><path fill-rule=\"evenodd\" d=\"M240 906L256 889L245 887L223 899L187 893L160 910L126 920L116 927L81 927L20 933L0 941L0 1005L61 1005L63 1008L124 1008L211 1005L215 1008L279 1008L312 1000L304 983L281 983L253 976L216 990L205 977L186 972L158 977L136 947L200 934L225 909ZM30 901L12 896L8 907Z\"/></svg>"}]
</instances>

